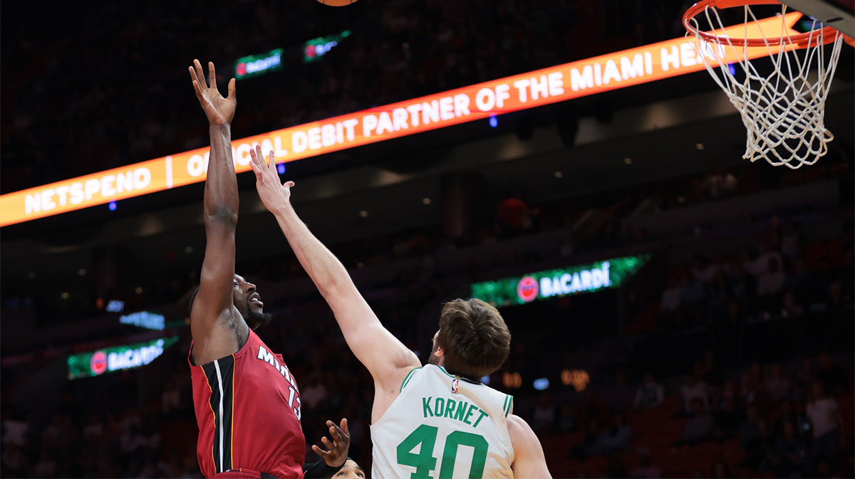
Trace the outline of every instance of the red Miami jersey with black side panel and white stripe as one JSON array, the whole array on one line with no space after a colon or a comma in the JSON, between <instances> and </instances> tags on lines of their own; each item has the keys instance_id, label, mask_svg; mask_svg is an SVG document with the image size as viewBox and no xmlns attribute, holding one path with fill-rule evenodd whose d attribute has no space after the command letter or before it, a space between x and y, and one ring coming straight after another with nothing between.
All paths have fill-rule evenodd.
<instances>
[{"instance_id":1,"label":"red Miami jersey with black side panel and white stripe","mask_svg":"<svg viewBox=\"0 0 855 479\"><path fill-rule=\"evenodd\" d=\"M188 360L203 475L243 469L303 477L300 393L282 356L250 330L237 353L197 366L191 347Z\"/></svg>"}]
</instances>

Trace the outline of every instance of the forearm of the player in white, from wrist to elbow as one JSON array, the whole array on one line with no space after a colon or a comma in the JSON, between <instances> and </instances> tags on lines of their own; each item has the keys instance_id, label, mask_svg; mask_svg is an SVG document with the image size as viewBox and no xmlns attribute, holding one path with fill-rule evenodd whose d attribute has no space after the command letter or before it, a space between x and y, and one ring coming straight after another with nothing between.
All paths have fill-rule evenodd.
<instances>
[{"instance_id":1,"label":"forearm of the player in white, from wrist to elbow","mask_svg":"<svg viewBox=\"0 0 855 479\"><path fill-rule=\"evenodd\" d=\"M327 298L351 283L345 266L309 231L290 202L276 208L274 215L300 265L309 273L321 295Z\"/></svg>"}]
</instances>

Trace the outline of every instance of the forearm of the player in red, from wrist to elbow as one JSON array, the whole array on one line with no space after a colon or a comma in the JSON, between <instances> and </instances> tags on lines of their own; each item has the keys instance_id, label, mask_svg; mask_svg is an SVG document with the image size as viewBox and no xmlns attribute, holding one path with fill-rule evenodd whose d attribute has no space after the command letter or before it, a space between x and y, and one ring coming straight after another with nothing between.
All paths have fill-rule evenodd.
<instances>
[{"instance_id":1,"label":"forearm of the player in red, from wrist to elbow","mask_svg":"<svg viewBox=\"0 0 855 479\"><path fill-rule=\"evenodd\" d=\"M208 177L205 179L204 213L209 220L238 220L238 179L232 161L232 128L229 125L209 127L211 149Z\"/></svg>"}]
</instances>

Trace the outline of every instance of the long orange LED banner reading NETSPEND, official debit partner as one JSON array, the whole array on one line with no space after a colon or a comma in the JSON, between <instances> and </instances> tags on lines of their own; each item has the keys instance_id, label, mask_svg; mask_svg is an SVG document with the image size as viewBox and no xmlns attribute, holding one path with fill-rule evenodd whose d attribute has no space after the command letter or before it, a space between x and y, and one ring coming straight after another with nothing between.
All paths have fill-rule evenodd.
<instances>
[{"instance_id":1,"label":"long orange LED banner reading NETSPEND, official debit partner","mask_svg":"<svg viewBox=\"0 0 855 479\"><path fill-rule=\"evenodd\" d=\"M771 17L748 29L762 29L767 38L796 33L792 26L799 16L796 12ZM728 27L723 33L730 31L734 36L753 37L743 25ZM716 52L714 48L704 44L699 52L694 38L675 38L236 139L233 141L235 169L237 172L250 169L250 149L257 143L262 145L265 155L274 150L277 161L296 161L494 114L697 72L705 68L699 55L734 55L734 49ZM764 55L768 55L765 48L747 49L749 59ZM728 62L736 60L727 58ZM208 151L208 148L194 149L0 196L0 226L198 183L205 178Z\"/></svg>"}]
</instances>

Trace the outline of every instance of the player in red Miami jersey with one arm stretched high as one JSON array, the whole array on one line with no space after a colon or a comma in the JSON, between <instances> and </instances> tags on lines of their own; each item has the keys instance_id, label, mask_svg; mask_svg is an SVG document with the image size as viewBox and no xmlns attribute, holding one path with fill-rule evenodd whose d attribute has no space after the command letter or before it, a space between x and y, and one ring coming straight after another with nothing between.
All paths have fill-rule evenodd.
<instances>
[{"instance_id":1,"label":"player in red Miami jersey with one arm stretched high","mask_svg":"<svg viewBox=\"0 0 855 479\"><path fill-rule=\"evenodd\" d=\"M199 426L199 467L209 478L303 477L305 438L297 383L282 356L270 351L254 332L270 321L256 286L234 273L235 81L229 81L224 98L216 88L214 64L208 64L210 85L199 61L193 65L189 68L193 89L208 117L211 142L204 192L207 244L199 288L190 301L193 342L188 361ZM315 448L315 452L327 461L318 463L320 476L331 477L347 457L343 441L347 427L345 421L344 430L332 422L327 425L333 441L323 438L323 442L330 451ZM331 466L328 475L323 465ZM313 471L311 475L318 476L317 468Z\"/></svg>"}]
</instances>

